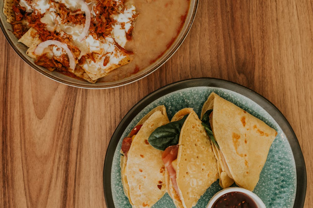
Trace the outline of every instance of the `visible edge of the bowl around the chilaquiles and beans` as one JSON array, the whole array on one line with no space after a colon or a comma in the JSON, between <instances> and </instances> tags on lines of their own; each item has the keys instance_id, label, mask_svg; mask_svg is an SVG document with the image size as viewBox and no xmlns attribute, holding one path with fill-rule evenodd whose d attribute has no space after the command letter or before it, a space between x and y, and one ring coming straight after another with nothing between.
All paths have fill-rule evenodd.
<instances>
[{"instance_id":1,"label":"visible edge of the bowl around the chilaquiles and beans","mask_svg":"<svg viewBox=\"0 0 313 208\"><path fill-rule=\"evenodd\" d=\"M198 7L198 0L190 0L189 11L186 17L186 21L182 27L182 30L178 34L176 40L173 42L172 46L170 46L167 49L167 51L160 58L158 58L155 62L151 63L146 68L140 70L138 73L133 74L129 77L125 77L121 80L116 80L116 81L114 80L114 81L108 81L108 82L96 82L95 84L91 84L85 80L75 79L75 78L63 75L56 71L51 72L44 67L34 64L34 60L26 55L26 51L28 49L27 46L18 42L18 39L12 33L11 24L6 21L7 17L2 12L3 1L0 2L0 10L1 10L0 27L7 41L13 47L14 51L18 54L18 56L20 56L28 65L30 65L33 69L38 71L40 74L45 75L46 77L52 80L55 80L57 82L74 86L74 87L88 88L88 89L105 89L105 88L113 88L113 87L130 84L132 82L140 80L141 78L151 74L152 72L157 70L161 65L163 65L177 51L177 49L179 48L179 46L181 46L182 42L187 36L192 26L194 17L196 15L197 7Z\"/></svg>"}]
</instances>

